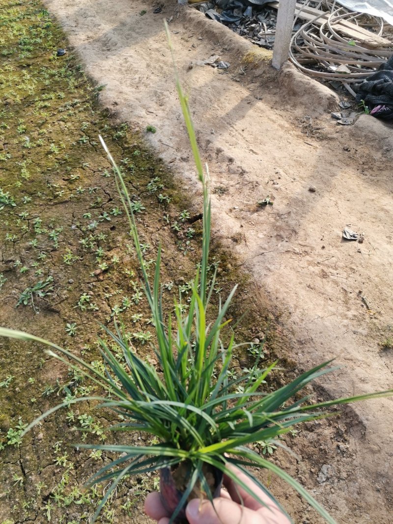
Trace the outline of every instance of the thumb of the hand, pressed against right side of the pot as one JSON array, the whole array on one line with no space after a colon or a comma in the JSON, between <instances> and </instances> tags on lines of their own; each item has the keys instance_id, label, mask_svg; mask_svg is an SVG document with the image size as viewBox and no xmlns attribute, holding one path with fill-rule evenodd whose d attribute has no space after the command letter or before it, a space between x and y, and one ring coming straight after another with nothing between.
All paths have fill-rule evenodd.
<instances>
[{"instance_id":1,"label":"thumb of the hand, pressed against right side of the pot","mask_svg":"<svg viewBox=\"0 0 393 524\"><path fill-rule=\"evenodd\" d=\"M209 500L193 499L185 514L190 524L264 524L258 512L240 506L227 498L215 498L214 507Z\"/></svg>"}]
</instances>

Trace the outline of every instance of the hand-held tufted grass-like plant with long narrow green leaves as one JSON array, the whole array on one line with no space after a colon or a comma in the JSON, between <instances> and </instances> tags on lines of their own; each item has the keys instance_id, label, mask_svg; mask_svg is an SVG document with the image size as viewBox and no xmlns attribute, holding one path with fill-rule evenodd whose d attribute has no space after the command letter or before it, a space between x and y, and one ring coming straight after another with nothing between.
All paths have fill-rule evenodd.
<instances>
[{"instance_id":1,"label":"hand-held tufted grass-like plant with long narrow green leaves","mask_svg":"<svg viewBox=\"0 0 393 524\"><path fill-rule=\"evenodd\" d=\"M171 45L170 48L172 51ZM125 364L121 364L107 344L101 340L105 373L56 344L24 332L0 328L1 336L48 346L49 355L78 370L108 394L101 397L68 399L43 413L26 428L25 433L57 409L69 407L70 403L97 400L100 402L97 409L110 409L122 416L123 422L113 425L112 430L139 431L159 440L158 444L137 446L129 445L127 438L123 439L124 444L117 445L77 444L78 447L106 450L119 455L90 479L91 484L112 479L111 487L101 500L93 521L122 478L157 470L160 472L162 503L172 514L170 522L187 522L184 508L191 498L208 498L214 504L214 497L220 492L223 474L264 504L264 501L236 476L233 469L228 467L233 464L272 500L275 500L274 497L246 466L266 468L278 475L297 490L327 522L334 524L328 512L295 479L248 446L257 441L274 442L298 424L326 416L326 408L330 406L391 395L393 390L319 403L310 403L309 396L299 398L298 394L305 386L335 369L329 367L331 362L314 367L290 384L274 391L264 390L263 385L275 363L261 371L259 357L245 375L229 378L227 372L237 345L233 332L230 342L224 345L221 332L230 323L230 320L225 320L225 316L236 286L225 302L220 301L214 320L208 323L206 319L210 316L209 304L215 283L215 274L212 279L209 279L208 275L210 197L188 101L182 92L176 68L175 75L196 171L203 189L202 256L193 280L188 311L184 313L179 304L174 309L175 318L169 316L168 321L165 321L160 289L161 250L158 249L155 276L150 283L126 184L100 137L117 175L117 189L128 217L139 259L144 292L154 320L157 341L154 352L159 370L134 353L124 336L122 326L116 322L113 331L106 328L105 331L121 348Z\"/></svg>"}]
</instances>

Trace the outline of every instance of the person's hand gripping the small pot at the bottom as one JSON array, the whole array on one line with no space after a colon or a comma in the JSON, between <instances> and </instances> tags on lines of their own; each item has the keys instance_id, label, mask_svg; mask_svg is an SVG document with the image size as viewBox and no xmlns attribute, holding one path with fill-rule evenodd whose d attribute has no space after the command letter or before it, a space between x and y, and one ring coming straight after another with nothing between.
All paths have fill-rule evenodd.
<instances>
[{"instance_id":1,"label":"person's hand gripping the small pot at the bottom","mask_svg":"<svg viewBox=\"0 0 393 524\"><path fill-rule=\"evenodd\" d=\"M209 500L193 499L185 508L190 524L290 524L288 517L280 508L239 468L229 466L236 477L253 489L264 501L259 504L234 481L224 475L223 483L227 491L221 490L220 497L214 499L214 508ZM243 499L243 506L241 499ZM169 515L163 507L160 494L149 493L145 500L145 513L158 524L168 524Z\"/></svg>"}]
</instances>

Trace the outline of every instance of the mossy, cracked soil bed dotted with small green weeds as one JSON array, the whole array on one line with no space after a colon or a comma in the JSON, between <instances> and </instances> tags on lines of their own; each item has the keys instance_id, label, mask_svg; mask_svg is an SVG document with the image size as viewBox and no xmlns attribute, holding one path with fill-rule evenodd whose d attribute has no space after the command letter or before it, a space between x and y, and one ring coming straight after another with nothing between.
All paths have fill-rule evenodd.
<instances>
[{"instance_id":1,"label":"mossy, cracked soil bed dotted with small green weeds","mask_svg":"<svg viewBox=\"0 0 393 524\"><path fill-rule=\"evenodd\" d=\"M116 316L136 351L153 358L150 315L99 133L133 195L148 264L154 266L158 243L165 246L168 312L179 286L187 301L201 228L192 217L200 203L181 193L143 136L111 122L97 102L102 86L91 84L73 54L57 57L67 41L42 4L0 0L0 8L0 323L64 345L100 367L99 323L111 326ZM212 263L221 261L218 296L238 276L219 246L214 255ZM236 318L245 311L240 336L266 332L269 320L246 289L238 293L231 314ZM269 333L266 348L274 353L273 330ZM252 358L246 350L239 354L235 371ZM88 391L91 384L41 347L0 341L2 524L89 522L106 486L84 490L83 484L111 457L68 444L112 440L105 432L108 421L86 403L58 412L19 439L25 424L40 413ZM123 438L138 442L144 436ZM99 521L128 516L141 522L140 495L154 488L155 478L125 479Z\"/></svg>"}]
</instances>

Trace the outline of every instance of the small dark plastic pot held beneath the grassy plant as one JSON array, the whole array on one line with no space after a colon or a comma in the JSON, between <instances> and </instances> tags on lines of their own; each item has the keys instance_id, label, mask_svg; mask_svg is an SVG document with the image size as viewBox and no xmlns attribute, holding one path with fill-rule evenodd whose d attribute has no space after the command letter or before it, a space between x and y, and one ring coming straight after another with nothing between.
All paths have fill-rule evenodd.
<instances>
[{"instance_id":1,"label":"small dark plastic pot held beneath the grassy plant","mask_svg":"<svg viewBox=\"0 0 393 524\"><path fill-rule=\"evenodd\" d=\"M180 468L182 471L179 473ZM217 468L210 464L204 464L202 471L205 474L205 477L209 476L213 479L210 486L213 498L219 497L222 486L222 471L217 470ZM181 463L180 466L177 466L176 468L165 467L160 470L160 497L162 505L168 511L169 515L173 514L183 496L184 489L180 486L184 486L184 488L187 486L191 474L192 466L191 463L187 462ZM201 494L199 483L197 483L188 497L188 500L200 498L201 496L203 495ZM188 504L188 500L183 505L175 519L174 522L176 524L188 524L188 520L185 517L185 507Z\"/></svg>"}]
</instances>

